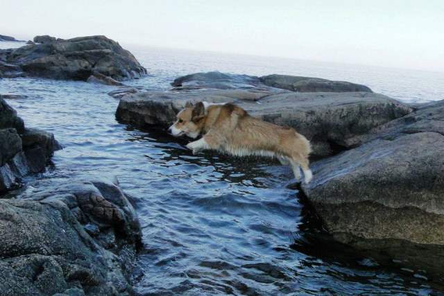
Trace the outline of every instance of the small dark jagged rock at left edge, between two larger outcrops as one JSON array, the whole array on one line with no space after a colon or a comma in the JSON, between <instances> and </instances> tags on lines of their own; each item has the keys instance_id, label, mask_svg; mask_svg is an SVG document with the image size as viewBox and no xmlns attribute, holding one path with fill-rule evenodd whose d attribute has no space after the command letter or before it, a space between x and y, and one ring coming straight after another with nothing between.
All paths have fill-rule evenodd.
<instances>
[{"instance_id":1,"label":"small dark jagged rock at left edge, between two larger outcrops","mask_svg":"<svg viewBox=\"0 0 444 296\"><path fill-rule=\"evenodd\" d=\"M53 134L25 128L0 95L0 194L17 188L28 173L44 171L53 152L60 148Z\"/></svg>"}]
</instances>

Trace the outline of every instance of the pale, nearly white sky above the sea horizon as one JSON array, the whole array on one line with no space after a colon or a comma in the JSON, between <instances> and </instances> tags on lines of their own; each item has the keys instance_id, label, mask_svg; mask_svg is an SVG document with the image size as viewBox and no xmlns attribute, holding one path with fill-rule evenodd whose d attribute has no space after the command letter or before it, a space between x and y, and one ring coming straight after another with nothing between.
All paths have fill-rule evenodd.
<instances>
[{"instance_id":1,"label":"pale, nearly white sky above the sea horizon","mask_svg":"<svg viewBox=\"0 0 444 296\"><path fill-rule=\"evenodd\" d=\"M444 71L444 0L1 0L0 34Z\"/></svg>"}]
</instances>

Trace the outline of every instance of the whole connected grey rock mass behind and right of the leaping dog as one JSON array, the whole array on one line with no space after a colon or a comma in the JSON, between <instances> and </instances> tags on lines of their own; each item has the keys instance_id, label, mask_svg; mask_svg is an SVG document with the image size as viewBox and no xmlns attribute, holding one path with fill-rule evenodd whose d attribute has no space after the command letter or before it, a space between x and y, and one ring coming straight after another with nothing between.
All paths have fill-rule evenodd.
<instances>
[{"instance_id":1,"label":"whole connected grey rock mass behind and right of the leaping dog","mask_svg":"<svg viewBox=\"0 0 444 296\"><path fill-rule=\"evenodd\" d=\"M174 80L168 92L124 95L116 116L139 128L163 128L187 102L232 102L296 128L319 159L302 192L336 241L408 258L405 265L444 277L436 255L444 254L443 101L413 107L350 82L326 81L196 73Z\"/></svg>"}]
</instances>

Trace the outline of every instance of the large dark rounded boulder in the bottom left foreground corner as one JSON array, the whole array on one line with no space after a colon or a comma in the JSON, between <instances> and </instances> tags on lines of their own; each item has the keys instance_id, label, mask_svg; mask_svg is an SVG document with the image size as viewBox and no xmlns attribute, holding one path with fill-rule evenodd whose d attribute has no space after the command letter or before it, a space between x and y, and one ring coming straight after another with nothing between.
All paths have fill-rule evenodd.
<instances>
[{"instance_id":1,"label":"large dark rounded boulder in the bottom left foreground corner","mask_svg":"<svg viewBox=\"0 0 444 296\"><path fill-rule=\"evenodd\" d=\"M125 193L108 180L57 183L0 200L0 294L133 295L141 231Z\"/></svg>"}]
</instances>

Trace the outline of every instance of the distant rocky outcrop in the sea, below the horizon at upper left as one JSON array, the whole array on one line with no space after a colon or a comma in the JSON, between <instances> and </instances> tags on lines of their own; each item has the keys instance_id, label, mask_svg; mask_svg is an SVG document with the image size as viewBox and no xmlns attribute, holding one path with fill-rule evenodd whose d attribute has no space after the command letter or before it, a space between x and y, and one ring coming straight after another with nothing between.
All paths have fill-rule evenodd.
<instances>
[{"instance_id":1,"label":"distant rocky outcrop in the sea, below the horizon at upper left","mask_svg":"<svg viewBox=\"0 0 444 296\"><path fill-rule=\"evenodd\" d=\"M0 61L19 67L22 75L53 79L86 81L103 75L126 80L146 74L129 51L105 36L69 40L37 36L34 41L42 43L0 50Z\"/></svg>"}]
</instances>

